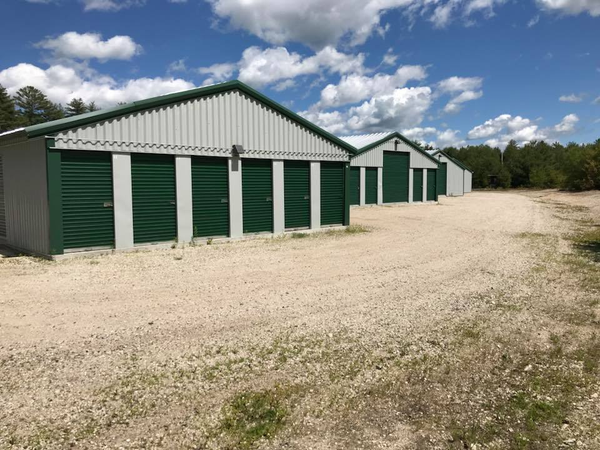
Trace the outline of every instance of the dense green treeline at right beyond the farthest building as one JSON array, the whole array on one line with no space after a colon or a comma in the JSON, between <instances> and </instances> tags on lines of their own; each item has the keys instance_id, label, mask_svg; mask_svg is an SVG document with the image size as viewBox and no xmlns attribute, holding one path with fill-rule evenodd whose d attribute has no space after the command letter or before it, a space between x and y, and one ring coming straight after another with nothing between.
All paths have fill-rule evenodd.
<instances>
[{"instance_id":1,"label":"dense green treeline at right beyond the farthest building","mask_svg":"<svg viewBox=\"0 0 600 450\"><path fill-rule=\"evenodd\" d=\"M567 145L511 141L504 152L488 145L444 150L473 171L474 188L600 189L600 139Z\"/></svg>"}]
</instances>

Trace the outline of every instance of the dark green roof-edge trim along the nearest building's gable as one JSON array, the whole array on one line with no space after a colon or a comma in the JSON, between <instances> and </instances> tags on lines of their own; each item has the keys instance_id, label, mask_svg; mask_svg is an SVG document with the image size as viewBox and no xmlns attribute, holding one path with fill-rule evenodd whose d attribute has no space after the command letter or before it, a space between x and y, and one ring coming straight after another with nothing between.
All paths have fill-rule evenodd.
<instances>
[{"instance_id":1,"label":"dark green roof-edge trim along the nearest building's gable","mask_svg":"<svg viewBox=\"0 0 600 450\"><path fill-rule=\"evenodd\" d=\"M269 106L275 111L288 117L289 119L298 122L302 126L308 128L312 132L321 136L322 138L333 142L334 144L342 147L344 150L351 154L356 154L357 149L333 134L323 130L321 127L314 123L306 120L304 117L299 116L295 112L287 109L283 105L280 105L269 97L261 94L257 90L250 86L242 83L238 80L228 81L226 83L215 84L212 86L205 86L188 91L176 92L174 94L161 95L159 97L153 97L146 100L139 100L137 102L128 103L127 105L117 106L110 109L102 109L91 113L81 114L79 116L67 117L66 119L53 120L52 122L46 122L39 125L33 125L25 128L25 133L28 138L34 138L38 136L47 136L53 133L59 133L61 131L69 130L71 128L78 128L85 125L90 125L105 120L114 119L127 114L132 114L147 109L157 108L160 106L166 106L173 103L184 102L186 100L192 100L199 97L206 97L209 95L220 94L223 92L229 92L233 90L239 90L249 97Z\"/></svg>"}]
</instances>

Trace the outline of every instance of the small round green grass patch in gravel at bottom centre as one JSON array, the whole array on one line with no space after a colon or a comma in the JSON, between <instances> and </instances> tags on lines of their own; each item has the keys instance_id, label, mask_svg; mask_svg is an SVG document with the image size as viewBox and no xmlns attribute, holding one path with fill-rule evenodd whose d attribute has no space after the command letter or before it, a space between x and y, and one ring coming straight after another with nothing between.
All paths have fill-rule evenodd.
<instances>
[{"instance_id":1,"label":"small round green grass patch in gravel at bottom centre","mask_svg":"<svg viewBox=\"0 0 600 450\"><path fill-rule=\"evenodd\" d=\"M253 449L262 440L272 439L285 425L288 410L284 401L289 392L272 390L241 392L226 404L219 430L236 449Z\"/></svg>"}]
</instances>

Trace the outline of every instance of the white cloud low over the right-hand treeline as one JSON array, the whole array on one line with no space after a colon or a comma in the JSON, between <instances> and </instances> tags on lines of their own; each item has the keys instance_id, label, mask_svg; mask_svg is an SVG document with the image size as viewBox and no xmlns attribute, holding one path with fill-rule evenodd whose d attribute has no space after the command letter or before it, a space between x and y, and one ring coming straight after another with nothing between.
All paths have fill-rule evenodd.
<instances>
[{"instance_id":1,"label":"white cloud low over the right-hand treeline","mask_svg":"<svg viewBox=\"0 0 600 450\"><path fill-rule=\"evenodd\" d=\"M505 148L511 140L518 144L526 144L531 141L557 139L562 135L572 134L575 132L578 122L577 115L569 114L552 127L540 128L530 119L502 114L476 126L469 131L467 137L469 139L487 139L486 144Z\"/></svg>"}]
</instances>

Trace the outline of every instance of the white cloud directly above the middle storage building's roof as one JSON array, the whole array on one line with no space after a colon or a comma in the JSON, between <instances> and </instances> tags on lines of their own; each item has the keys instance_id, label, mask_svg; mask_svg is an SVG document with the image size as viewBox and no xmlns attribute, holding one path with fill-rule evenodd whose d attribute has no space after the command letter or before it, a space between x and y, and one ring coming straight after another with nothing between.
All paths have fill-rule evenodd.
<instances>
[{"instance_id":1,"label":"white cloud directly above the middle storage building's roof","mask_svg":"<svg viewBox=\"0 0 600 450\"><path fill-rule=\"evenodd\" d=\"M400 88L376 95L345 112L313 109L300 114L331 133L358 134L415 127L423 121L431 102L429 87Z\"/></svg>"}]
</instances>

